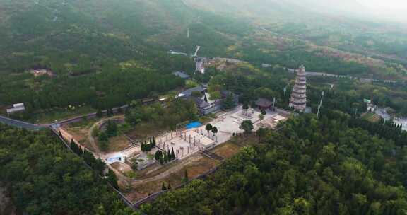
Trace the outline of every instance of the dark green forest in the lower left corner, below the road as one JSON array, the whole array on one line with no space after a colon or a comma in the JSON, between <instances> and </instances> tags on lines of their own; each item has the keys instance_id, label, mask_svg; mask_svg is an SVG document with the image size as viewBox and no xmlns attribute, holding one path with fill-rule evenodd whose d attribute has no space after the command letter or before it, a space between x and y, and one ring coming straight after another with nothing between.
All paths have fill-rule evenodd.
<instances>
[{"instance_id":1,"label":"dark green forest in the lower left corner, below the road","mask_svg":"<svg viewBox=\"0 0 407 215\"><path fill-rule=\"evenodd\" d=\"M0 181L18 214L133 214L99 173L51 132L0 124Z\"/></svg>"}]
</instances>

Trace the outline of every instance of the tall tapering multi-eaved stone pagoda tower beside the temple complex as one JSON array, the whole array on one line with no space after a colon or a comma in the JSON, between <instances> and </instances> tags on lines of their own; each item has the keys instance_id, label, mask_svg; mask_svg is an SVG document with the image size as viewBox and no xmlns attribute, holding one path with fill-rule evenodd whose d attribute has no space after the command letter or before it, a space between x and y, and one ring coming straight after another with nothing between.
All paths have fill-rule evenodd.
<instances>
[{"instance_id":1,"label":"tall tapering multi-eaved stone pagoda tower beside the temple complex","mask_svg":"<svg viewBox=\"0 0 407 215\"><path fill-rule=\"evenodd\" d=\"M305 108L307 108L307 76L305 75L304 66L298 68L289 106L299 112L304 112Z\"/></svg>"}]
</instances>

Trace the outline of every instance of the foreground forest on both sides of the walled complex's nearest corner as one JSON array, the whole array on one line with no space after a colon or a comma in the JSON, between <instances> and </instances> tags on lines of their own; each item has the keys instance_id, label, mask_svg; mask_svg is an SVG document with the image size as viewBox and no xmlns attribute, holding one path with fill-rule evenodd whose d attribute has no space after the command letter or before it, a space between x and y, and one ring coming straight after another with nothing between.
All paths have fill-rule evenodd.
<instances>
[{"instance_id":1,"label":"foreground forest on both sides of the walled complex's nearest corner","mask_svg":"<svg viewBox=\"0 0 407 215\"><path fill-rule=\"evenodd\" d=\"M315 115L291 118L279 125L278 132L252 134L258 140L206 180L194 180L143 204L141 211L404 214L407 132L391 124L368 123L338 111L330 111L320 120ZM126 208L97 172L85 168L82 158L49 132L3 125L0 131L0 180L8 185L19 211L138 214ZM398 135L404 137L394 139ZM78 153L78 149L74 151Z\"/></svg>"}]
</instances>

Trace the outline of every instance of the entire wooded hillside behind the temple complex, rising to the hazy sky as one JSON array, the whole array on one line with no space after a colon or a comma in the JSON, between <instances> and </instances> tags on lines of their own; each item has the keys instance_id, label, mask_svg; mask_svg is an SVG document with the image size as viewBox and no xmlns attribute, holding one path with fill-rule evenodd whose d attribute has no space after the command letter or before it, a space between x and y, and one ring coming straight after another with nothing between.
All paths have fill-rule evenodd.
<instances>
[{"instance_id":1,"label":"entire wooded hillside behind the temple complex, rising to the hazy sky","mask_svg":"<svg viewBox=\"0 0 407 215\"><path fill-rule=\"evenodd\" d=\"M401 28L291 1L256 2L0 0L0 108L22 101L33 110L110 108L164 93L183 86L172 71L194 69L189 57L168 50L191 54L197 45L199 56L255 66L305 64L309 71L406 79Z\"/></svg>"}]
</instances>

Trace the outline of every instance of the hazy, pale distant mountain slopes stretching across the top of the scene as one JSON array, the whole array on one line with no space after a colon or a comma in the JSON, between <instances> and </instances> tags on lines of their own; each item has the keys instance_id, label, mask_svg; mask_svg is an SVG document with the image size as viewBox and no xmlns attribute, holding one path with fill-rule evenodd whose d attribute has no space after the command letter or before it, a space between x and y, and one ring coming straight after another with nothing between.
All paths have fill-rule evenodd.
<instances>
[{"instance_id":1,"label":"hazy, pale distant mountain slopes stretching across the top of the scene","mask_svg":"<svg viewBox=\"0 0 407 215\"><path fill-rule=\"evenodd\" d=\"M66 73L98 69L106 59L153 62L168 50L190 54L197 45L208 57L285 66L308 54L368 66L370 59L349 54L402 63L407 33L344 15L354 6L349 2L329 9L317 0L0 0L0 71L43 65ZM299 56L288 54L295 50Z\"/></svg>"}]
</instances>

